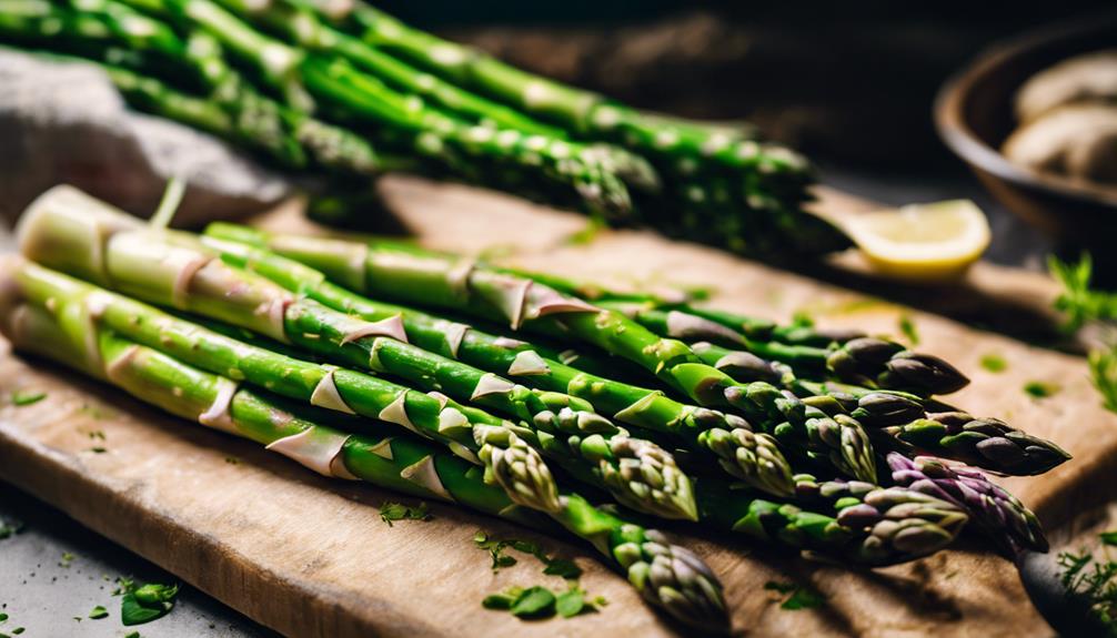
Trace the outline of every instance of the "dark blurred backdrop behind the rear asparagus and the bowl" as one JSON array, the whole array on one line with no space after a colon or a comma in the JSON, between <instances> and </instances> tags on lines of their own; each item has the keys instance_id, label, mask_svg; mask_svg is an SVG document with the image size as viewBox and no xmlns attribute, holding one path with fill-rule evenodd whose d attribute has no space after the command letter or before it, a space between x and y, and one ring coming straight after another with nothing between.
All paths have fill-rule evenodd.
<instances>
[{"instance_id":1,"label":"dark blurred backdrop behind the rear asparagus and the bowl","mask_svg":"<svg viewBox=\"0 0 1117 638\"><path fill-rule=\"evenodd\" d=\"M999 40L1088 21L1111 2L866 0L391 1L384 9L514 65L639 107L745 119L818 163L822 180L886 204L973 199L986 259L1042 267L1051 242L1011 215L939 141L942 85Z\"/></svg>"}]
</instances>

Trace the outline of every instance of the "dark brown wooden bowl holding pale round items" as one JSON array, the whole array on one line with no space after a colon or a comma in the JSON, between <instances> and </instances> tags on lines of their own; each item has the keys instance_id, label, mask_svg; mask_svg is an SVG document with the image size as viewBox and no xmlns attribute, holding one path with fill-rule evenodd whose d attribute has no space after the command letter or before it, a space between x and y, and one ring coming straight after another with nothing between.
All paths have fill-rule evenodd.
<instances>
[{"instance_id":1,"label":"dark brown wooden bowl holding pale round items","mask_svg":"<svg viewBox=\"0 0 1117 638\"><path fill-rule=\"evenodd\" d=\"M1027 33L982 52L935 100L935 125L946 145L1001 203L1062 246L1113 243L1117 188L1016 166L1001 154L1001 144L1016 126L1012 100L1028 78L1114 42L1117 13Z\"/></svg>"}]
</instances>

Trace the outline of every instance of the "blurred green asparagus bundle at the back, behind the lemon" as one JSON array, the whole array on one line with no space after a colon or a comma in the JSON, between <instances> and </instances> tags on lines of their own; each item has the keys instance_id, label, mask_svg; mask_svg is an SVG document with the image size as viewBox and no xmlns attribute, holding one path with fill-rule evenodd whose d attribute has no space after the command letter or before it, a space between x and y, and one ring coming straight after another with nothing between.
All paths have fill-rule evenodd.
<instances>
[{"instance_id":1,"label":"blurred green asparagus bundle at the back, behind the lemon","mask_svg":"<svg viewBox=\"0 0 1117 638\"><path fill-rule=\"evenodd\" d=\"M806 162L318 0L0 0L0 40L93 60L136 108L347 188L452 177L771 259L849 245Z\"/></svg>"}]
</instances>

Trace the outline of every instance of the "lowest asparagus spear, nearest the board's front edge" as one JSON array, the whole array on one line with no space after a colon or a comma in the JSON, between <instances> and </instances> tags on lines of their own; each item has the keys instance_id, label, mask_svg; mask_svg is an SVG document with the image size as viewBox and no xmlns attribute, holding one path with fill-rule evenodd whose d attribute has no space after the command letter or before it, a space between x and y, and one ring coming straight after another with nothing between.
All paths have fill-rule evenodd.
<instances>
[{"instance_id":1,"label":"lowest asparagus spear, nearest the board's front edge","mask_svg":"<svg viewBox=\"0 0 1117 638\"><path fill-rule=\"evenodd\" d=\"M422 441L381 434L381 428L338 432L228 377L192 368L109 330L90 334L88 325L63 323L45 309L26 304L9 307L3 319L4 334L21 349L107 380L171 414L261 443L326 476L457 502L534 526L541 522L521 510L523 503L553 503L547 514L601 551L645 600L693 627L727 626L722 586L701 559L670 544L658 531L595 509L575 493L560 493L541 466L525 471L518 456L486 448L486 477L514 481L510 490L496 487L475 466ZM529 492L543 494L525 497Z\"/></svg>"}]
</instances>

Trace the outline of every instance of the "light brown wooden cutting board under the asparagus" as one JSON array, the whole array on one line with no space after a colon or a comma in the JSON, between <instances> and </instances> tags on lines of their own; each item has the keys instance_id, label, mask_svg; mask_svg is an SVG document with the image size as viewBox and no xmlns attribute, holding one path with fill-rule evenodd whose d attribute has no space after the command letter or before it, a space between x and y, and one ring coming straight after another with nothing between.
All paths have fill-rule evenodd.
<instances>
[{"instance_id":1,"label":"light brown wooden cutting board under the asparagus","mask_svg":"<svg viewBox=\"0 0 1117 638\"><path fill-rule=\"evenodd\" d=\"M919 348L972 376L973 384L952 397L955 403L1050 437L1075 455L1046 476L1003 482L1057 540L1076 511L1106 502L1107 486L1117 485L1117 416L1099 406L1081 358L647 232L602 232L589 243L571 243L584 218L507 196L403 177L386 180L384 188L405 225L432 248L484 251L507 263L607 283L701 286L725 308L775 319L805 310L824 325L875 334L898 334L899 318L908 316ZM830 199L822 205L831 212L857 207ZM306 225L289 210L261 223L287 230ZM975 280L990 278L983 269ZM1010 280L1018 301L1027 293L1046 303L1052 293L1038 276L1013 273ZM986 300L1003 294L995 287L972 288ZM975 298L973 290L966 298ZM978 361L985 355L1002 357L1008 368L984 370ZM1052 398L1031 398L1022 389L1031 380L1059 390ZM17 389L48 396L16 407L8 397ZM582 545L442 505L432 508L429 522L389 526L378 505L398 496L321 478L251 444L165 417L59 367L26 360L2 342L0 402L0 478L285 635L650 637L676 631ZM94 442L94 432L104 441ZM105 452L94 452L95 446ZM526 557L494 574L487 552L474 547L477 530L535 539L575 558L585 569L583 587L604 596L609 606L543 622L484 610L485 593L547 577ZM1051 634L1028 605L1015 569L973 544L907 566L852 572L736 538L677 532L720 574L738 634ZM818 609L780 609L779 596L764 589L770 581L810 583L827 602Z\"/></svg>"}]
</instances>

